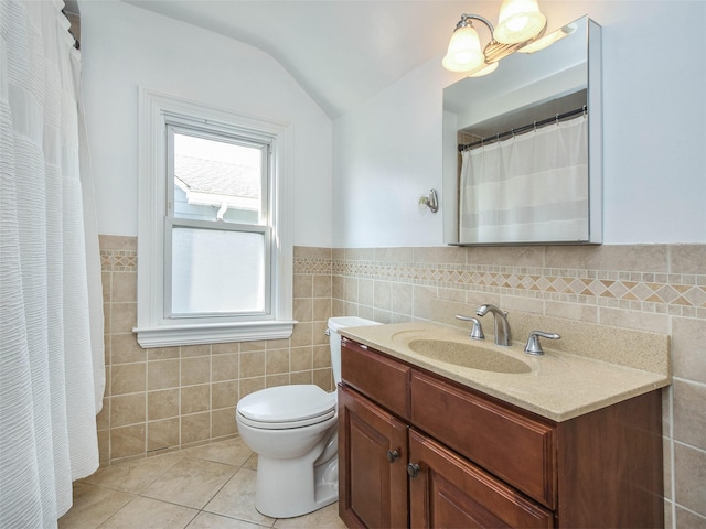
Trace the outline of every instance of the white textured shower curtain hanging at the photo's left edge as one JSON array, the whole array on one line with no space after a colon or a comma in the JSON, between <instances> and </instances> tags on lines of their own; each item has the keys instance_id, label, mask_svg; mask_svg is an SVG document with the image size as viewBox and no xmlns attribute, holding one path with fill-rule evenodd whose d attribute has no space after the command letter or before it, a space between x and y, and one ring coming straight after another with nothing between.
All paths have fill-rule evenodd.
<instances>
[{"instance_id":1,"label":"white textured shower curtain hanging at the photo's left edge","mask_svg":"<svg viewBox=\"0 0 706 529\"><path fill-rule=\"evenodd\" d=\"M98 467L103 336L92 331L101 334L103 316L90 313L100 284L97 258L86 256L86 234L94 251L97 235L83 214L81 63L62 8L0 1L3 529L56 527L72 481Z\"/></svg>"}]
</instances>

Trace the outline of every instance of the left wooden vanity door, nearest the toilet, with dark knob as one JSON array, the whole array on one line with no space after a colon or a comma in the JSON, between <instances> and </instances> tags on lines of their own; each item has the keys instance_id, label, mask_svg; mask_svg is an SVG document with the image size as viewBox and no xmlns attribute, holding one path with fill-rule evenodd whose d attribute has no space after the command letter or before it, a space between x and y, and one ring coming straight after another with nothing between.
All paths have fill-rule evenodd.
<instances>
[{"instance_id":1,"label":"left wooden vanity door, nearest the toilet, with dark knob","mask_svg":"<svg viewBox=\"0 0 706 529\"><path fill-rule=\"evenodd\" d=\"M406 464L407 425L340 386L339 515L347 527L408 527Z\"/></svg>"}]
</instances>

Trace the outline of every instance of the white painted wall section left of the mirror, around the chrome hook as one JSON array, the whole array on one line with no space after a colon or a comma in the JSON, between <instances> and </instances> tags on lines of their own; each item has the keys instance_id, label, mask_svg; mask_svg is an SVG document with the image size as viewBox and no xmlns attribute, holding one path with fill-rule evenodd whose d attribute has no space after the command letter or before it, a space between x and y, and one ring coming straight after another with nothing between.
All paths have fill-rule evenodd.
<instances>
[{"instance_id":1,"label":"white painted wall section left of the mirror, around the chrome hook","mask_svg":"<svg viewBox=\"0 0 706 529\"><path fill-rule=\"evenodd\" d=\"M445 72L427 63L334 121L334 246L442 244L441 95Z\"/></svg>"}]
</instances>

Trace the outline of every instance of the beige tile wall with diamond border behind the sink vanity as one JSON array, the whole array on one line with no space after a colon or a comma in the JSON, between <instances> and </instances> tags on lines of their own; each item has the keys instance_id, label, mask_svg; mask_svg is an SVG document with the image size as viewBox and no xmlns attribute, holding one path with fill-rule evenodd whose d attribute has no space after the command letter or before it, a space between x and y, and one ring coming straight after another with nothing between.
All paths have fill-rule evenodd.
<instances>
[{"instance_id":1,"label":"beige tile wall with diamond border behind the sink vanity","mask_svg":"<svg viewBox=\"0 0 706 529\"><path fill-rule=\"evenodd\" d=\"M334 249L332 273L334 315L450 323L490 302L511 324L520 311L670 335L666 527L706 527L706 245Z\"/></svg>"}]
</instances>

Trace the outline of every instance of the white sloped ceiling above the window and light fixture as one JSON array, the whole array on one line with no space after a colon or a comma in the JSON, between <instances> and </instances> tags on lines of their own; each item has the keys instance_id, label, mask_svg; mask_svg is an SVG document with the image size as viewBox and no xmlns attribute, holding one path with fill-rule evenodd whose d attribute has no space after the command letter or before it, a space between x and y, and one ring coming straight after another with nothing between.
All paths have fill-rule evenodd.
<instances>
[{"instance_id":1,"label":"white sloped ceiling above the window and light fixture","mask_svg":"<svg viewBox=\"0 0 706 529\"><path fill-rule=\"evenodd\" d=\"M500 0L122 1L263 50L331 118L420 64L440 63L462 12L494 22L500 8Z\"/></svg>"}]
</instances>

